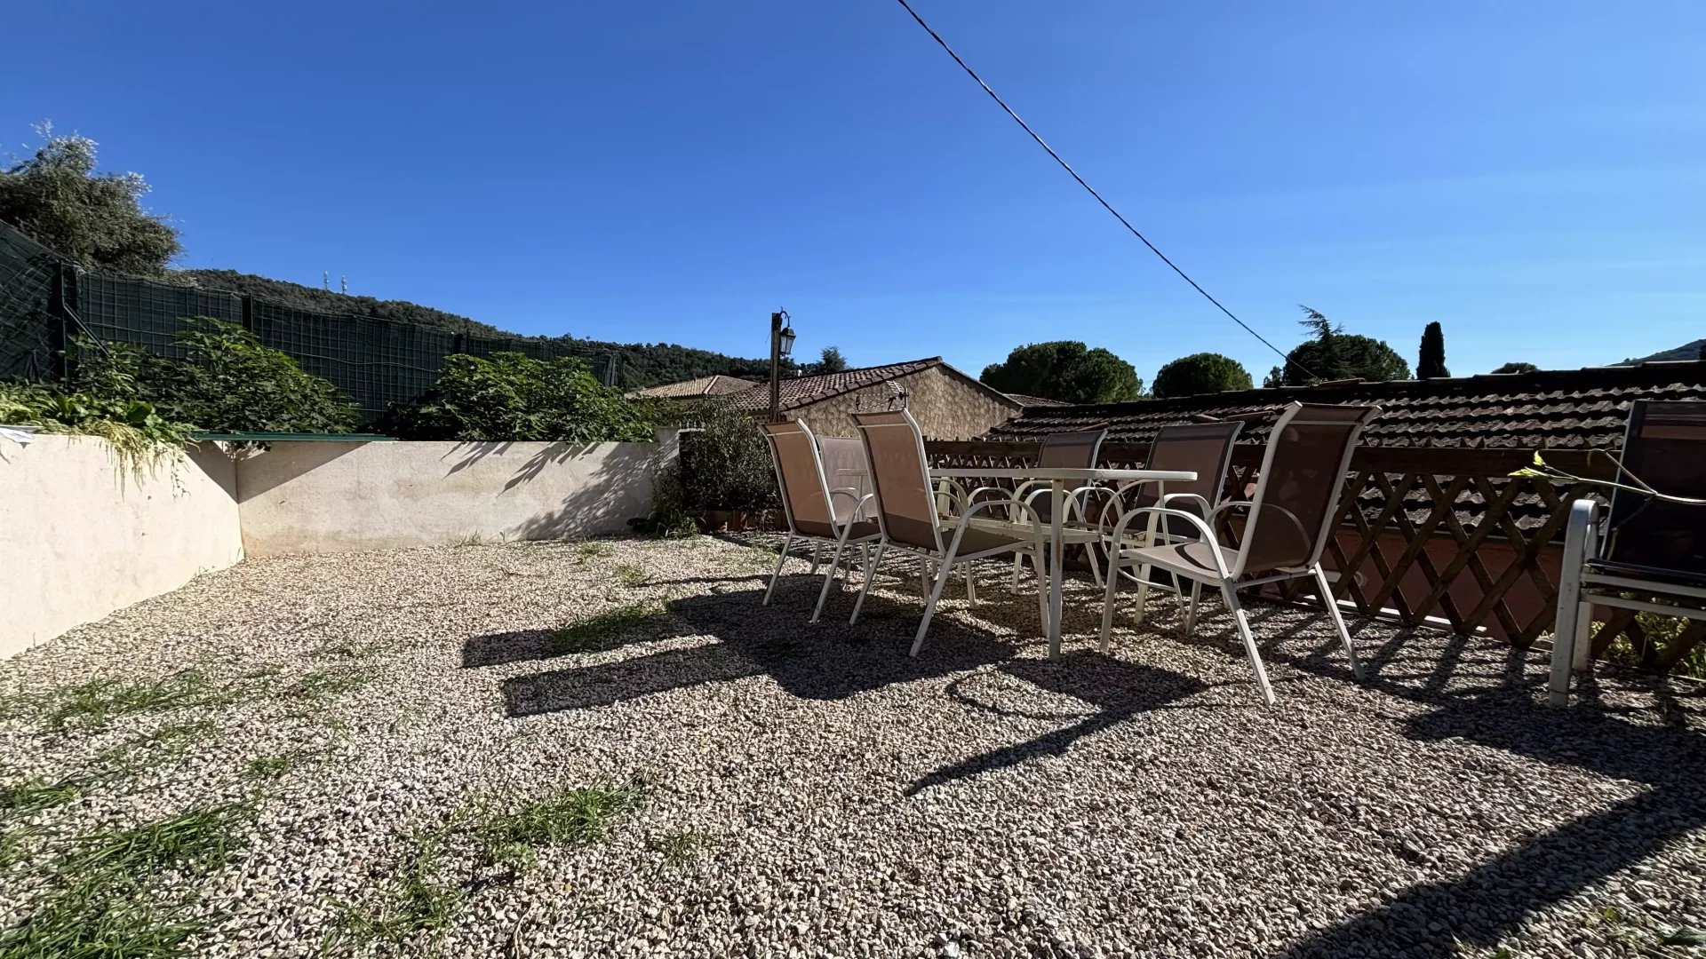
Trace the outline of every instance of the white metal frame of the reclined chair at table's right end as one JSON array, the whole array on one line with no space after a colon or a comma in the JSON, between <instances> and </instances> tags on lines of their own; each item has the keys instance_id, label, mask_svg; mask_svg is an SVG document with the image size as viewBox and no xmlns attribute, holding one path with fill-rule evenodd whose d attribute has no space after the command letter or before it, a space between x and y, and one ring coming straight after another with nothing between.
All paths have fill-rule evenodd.
<instances>
[{"instance_id":1,"label":"white metal frame of the reclined chair at table's right end","mask_svg":"<svg viewBox=\"0 0 1706 959\"><path fill-rule=\"evenodd\" d=\"M1239 638L1244 642L1244 652L1245 652L1245 655L1250 660L1250 669L1256 672L1256 684L1261 688L1262 700L1269 706L1274 705L1274 693L1273 693L1273 686L1268 683L1268 669L1262 665L1261 652L1256 648L1256 636L1250 633L1249 614L1244 611L1244 606L1239 602L1239 590L1240 589L1266 585L1266 584L1273 584L1273 582L1285 582L1285 580L1293 580L1293 578L1305 578L1305 577L1315 580L1315 589L1320 590L1322 604L1327 607L1327 614L1332 619L1332 626L1339 633L1339 643L1344 647L1344 655L1351 660L1351 674L1356 676L1356 679L1363 677L1363 665L1361 665L1361 660L1356 659L1356 648L1351 645L1351 633L1344 626L1344 616L1339 614L1339 604L1338 604L1338 601L1332 596L1332 585L1327 580L1326 570L1322 570L1322 567L1320 567L1320 553L1327 546L1327 538L1336 532L1332 529L1331 522L1324 522L1320 526L1320 532L1315 536L1315 543L1314 543L1314 548L1312 548L1312 551L1309 555L1309 561L1307 563L1298 565L1298 567L1281 567L1276 572L1273 572L1269 575L1264 575L1264 577L1256 577L1256 578L1249 578L1249 580L1240 578L1245 573L1245 563L1249 561L1250 544L1256 541L1256 538L1250 532L1254 531L1256 517L1261 514L1261 510L1273 510L1276 514L1285 515L1286 519L1291 520L1293 526L1297 526L1298 532L1305 532L1307 534L1307 531L1303 527L1303 522L1295 514L1291 514L1285 507L1264 502L1266 493L1268 493L1269 468L1273 466L1274 452L1278 452L1280 444L1281 444L1281 435L1285 433L1285 428L1288 425L1293 425L1293 423L1297 423L1297 425L1326 425L1326 423L1343 425L1341 420L1322 420L1319 423L1317 421L1309 421L1309 420L1297 420L1297 415L1302 410L1303 410L1302 404L1293 403L1290 408L1286 408L1286 411L1274 423L1274 428L1273 428L1273 432L1269 433L1269 439L1268 439L1268 450L1262 454L1262 468L1261 468L1261 474L1259 474L1261 478L1257 481L1256 497L1252 500L1230 500L1230 502L1225 502L1225 503L1215 507L1213 510L1210 510L1206 514L1206 517L1198 517L1196 514L1189 514L1189 512L1184 512L1184 510L1167 509L1165 505L1160 505L1160 503L1153 505L1153 507L1134 507L1134 509L1128 510L1126 515L1121 517L1119 524L1114 527L1111 541L1116 546L1111 548L1111 551L1109 551L1109 565L1112 568L1117 568L1117 565L1129 561L1128 555L1124 553L1123 546L1119 546L1119 544L1123 543L1123 539L1126 536L1126 531L1129 529L1131 522L1136 520L1138 517L1153 515L1153 517L1162 519L1162 520L1165 520L1169 517L1179 517L1181 520L1191 524L1191 527L1196 529L1196 532L1201 534L1201 538L1203 538L1201 541L1213 546L1210 549L1210 555L1213 556L1213 561L1215 561L1213 573L1208 573L1206 570L1198 570L1198 568L1191 568L1191 567L1175 565L1175 563L1150 563L1150 561L1145 561L1145 563L1136 563L1138 565L1138 578L1140 578L1140 582L1146 580L1150 567L1153 565L1153 567L1158 567L1158 568L1163 568L1163 570L1174 573L1175 577L1184 577L1184 578L1192 580L1192 589L1191 589L1191 613L1186 618L1186 635L1191 635L1192 630L1194 630L1194 626L1196 626L1196 601L1198 601L1198 596L1201 594L1201 585L1206 584L1206 585L1218 587L1221 597L1227 602L1227 609L1232 611L1232 616L1237 621ZM1334 509L1334 510L1336 510L1339 500L1344 497L1344 473L1346 473L1346 469L1349 469L1351 454L1356 450L1356 439L1361 435L1361 428L1363 428L1361 425L1356 425L1355 433L1351 435L1349 442L1344 444L1344 456L1339 461L1339 469L1334 473L1334 478L1339 483L1339 491L1338 491L1336 497L1332 497L1332 507L1331 509ZM1181 493L1181 495L1189 495L1189 493ZM1170 500L1172 497L1165 497L1165 498ZM1196 497L1196 498L1201 498L1201 497ZM1245 534L1244 534L1244 538L1239 543L1239 549L1233 553L1233 560L1228 565L1227 558L1225 558L1225 553L1218 548L1220 539L1215 534L1213 522L1215 522L1215 517L1218 517L1221 512L1232 510L1232 509L1249 509L1252 519L1249 520L1249 524L1245 527ZM1331 515L1331 512L1329 512L1329 515ZM1165 524L1162 524L1162 526L1165 526ZM1167 539L1169 539L1169 543L1172 541L1170 536L1167 536ZM1153 556L1145 556L1145 558L1153 560ZM1112 635L1112 628L1114 628L1114 590L1116 590L1117 585L1119 585L1119 577L1117 575L1109 575L1107 577L1107 594L1105 594L1104 604L1102 604L1102 652L1107 652L1109 642L1111 642L1111 635ZM1143 594L1140 592L1140 597ZM1141 621L1143 621L1143 606L1140 604L1138 606L1138 613L1136 613L1136 623L1141 623Z\"/></svg>"}]
</instances>

